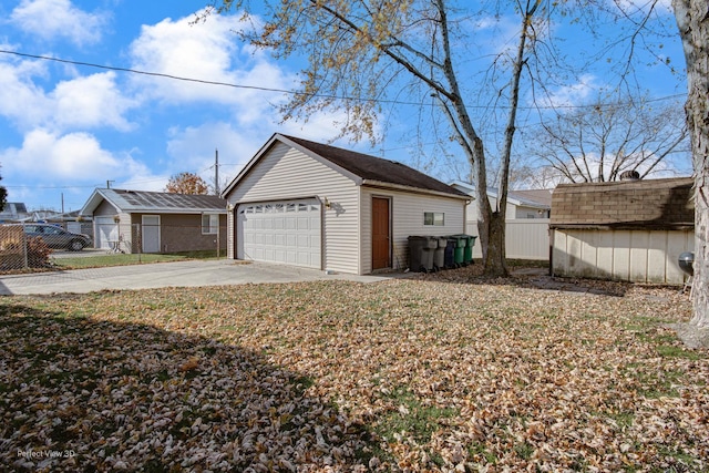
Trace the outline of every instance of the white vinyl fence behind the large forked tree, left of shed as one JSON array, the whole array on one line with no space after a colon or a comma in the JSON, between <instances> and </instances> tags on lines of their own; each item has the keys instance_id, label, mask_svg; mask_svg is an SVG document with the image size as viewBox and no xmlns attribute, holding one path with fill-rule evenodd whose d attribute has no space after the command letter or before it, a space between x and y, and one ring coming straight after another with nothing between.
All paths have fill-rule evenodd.
<instances>
[{"instance_id":1,"label":"white vinyl fence behind the large forked tree, left of shed","mask_svg":"<svg viewBox=\"0 0 709 473\"><path fill-rule=\"evenodd\" d=\"M506 222L505 249L511 259L549 259L549 219L517 218ZM467 222L467 235L477 236L477 222ZM473 258L482 258L480 243L473 247Z\"/></svg>"}]
</instances>

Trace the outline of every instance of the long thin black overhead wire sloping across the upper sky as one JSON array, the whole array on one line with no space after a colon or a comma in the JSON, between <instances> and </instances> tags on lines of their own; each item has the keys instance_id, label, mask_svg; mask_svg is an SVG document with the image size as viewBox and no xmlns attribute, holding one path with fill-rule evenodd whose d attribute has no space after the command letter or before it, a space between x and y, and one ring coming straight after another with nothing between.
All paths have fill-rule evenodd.
<instances>
[{"instance_id":1,"label":"long thin black overhead wire sloping across the upper sky","mask_svg":"<svg viewBox=\"0 0 709 473\"><path fill-rule=\"evenodd\" d=\"M96 64L96 63L92 63L92 62L84 62L84 61L73 61L73 60L69 60L69 59L62 59L62 58L53 58L53 56L49 56L49 55L40 55L40 54L29 54L29 53L23 53L23 52L19 52L19 51L8 51L8 50L1 50L0 49L0 53L2 54L12 54L12 55L18 55L21 58L31 58L31 59L37 59L37 60L41 60L41 61L53 61L53 62L60 62L60 63L64 63L64 64L72 64L72 65L81 65L81 66L86 66L86 68L95 68L95 69L103 69L103 70L109 70L109 71L117 71L117 72L127 72L127 73L132 73L132 74L141 74L141 75L148 75L148 76L154 76L154 78L163 78L163 79L172 79L175 81L183 81L183 82L193 82L193 83L198 83L198 84L205 84L205 85L218 85L218 86L225 86L225 88L232 88L232 89L245 89L245 90L255 90L255 91L261 91L261 92L277 92L277 93L284 93L284 94L288 94L288 95L307 95L307 96L311 96L315 99L328 99L328 100L349 100L349 101L363 101L363 102L377 102L377 103L388 103L388 104L395 104L395 105L415 105L415 106L435 106L434 104L431 103L423 103L423 102L405 102L405 101L399 101L399 100L387 100L387 99L361 99L361 97L353 97L353 96L347 96L347 95L329 95L329 94L319 94L319 93L305 93L305 92L298 92L298 91L291 91L291 90L286 90L286 89L275 89L275 88L264 88L264 86L258 86L258 85L244 85L244 84L234 84L234 83L229 83L229 82L219 82L219 81L209 81L209 80L204 80L204 79L194 79L194 78L184 78L181 75L173 75L173 74L165 74L162 72L150 72L150 71L141 71L137 69L131 69L131 68L119 68L119 66L114 66L114 65L105 65L105 64ZM667 96L661 96L661 97L656 97L656 99L649 99L645 102L660 102L660 101L666 101L666 100L674 100L674 99L679 99L679 97L684 97L687 96L687 94L675 94L675 95L667 95ZM587 109L587 107L597 107L597 104L587 104L587 105L534 105L534 106L517 106L518 110L558 110L558 109ZM467 105L469 109L489 109L489 105ZM497 109L508 109L508 106L503 105L503 106L496 106Z\"/></svg>"}]
</instances>

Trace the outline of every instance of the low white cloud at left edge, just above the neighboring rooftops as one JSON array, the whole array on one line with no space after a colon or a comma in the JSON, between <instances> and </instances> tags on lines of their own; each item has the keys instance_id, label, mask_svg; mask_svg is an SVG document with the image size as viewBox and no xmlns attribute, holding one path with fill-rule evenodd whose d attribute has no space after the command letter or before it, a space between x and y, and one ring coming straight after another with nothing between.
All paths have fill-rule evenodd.
<instances>
[{"instance_id":1,"label":"low white cloud at left edge, just above the neighboring rooftops","mask_svg":"<svg viewBox=\"0 0 709 473\"><path fill-rule=\"evenodd\" d=\"M103 150L88 133L58 135L34 130L24 136L22 147L6 148L0 161L8 177L34 183L102 183L150 174L131 156L119 157Z\"/></svg>"}]
</instances>

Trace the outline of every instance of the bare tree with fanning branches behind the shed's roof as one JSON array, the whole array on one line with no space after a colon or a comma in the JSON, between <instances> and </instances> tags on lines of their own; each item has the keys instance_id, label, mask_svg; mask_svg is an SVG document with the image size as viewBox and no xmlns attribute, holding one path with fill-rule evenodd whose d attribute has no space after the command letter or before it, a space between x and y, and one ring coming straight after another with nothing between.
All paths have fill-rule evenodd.
<instances>
[{"instance_id":1,"label":"bare tree with fanning branches behind the shed's roof","mask_svg":"<svg viewBox=\"0 0 709 473\"><path fill-rule=\"evenodd\" d=\"M526 148L564 182L617 181L624 172L645 178L671 172L676 153L689 154L681 106L647 100L597 101L542 122Z\"/></svg>"}]
</instances>

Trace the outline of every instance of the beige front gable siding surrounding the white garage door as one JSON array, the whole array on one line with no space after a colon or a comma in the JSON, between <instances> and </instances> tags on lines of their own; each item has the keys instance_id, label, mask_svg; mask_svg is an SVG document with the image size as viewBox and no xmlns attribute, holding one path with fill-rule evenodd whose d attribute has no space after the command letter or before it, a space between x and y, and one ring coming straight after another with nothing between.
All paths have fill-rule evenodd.
<instances>
[{"instance_id":1,"label":"beige front gable siding surrounding the white garage door","mask_svg":"<svg viewBox=\"0 0 709 473\"><path fill-rule=\"evenodd\" d=\"M322 207L321 269L359 274L358 186L353 181L315 158L276 143L227 196L239 203L318 197ZM331 205L325 208L325 198ZM229 219L229 236L236 237L236 219ZM235 245L229 243L229 257Z\"/></svg>"}]
</instances>

